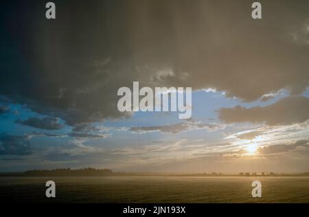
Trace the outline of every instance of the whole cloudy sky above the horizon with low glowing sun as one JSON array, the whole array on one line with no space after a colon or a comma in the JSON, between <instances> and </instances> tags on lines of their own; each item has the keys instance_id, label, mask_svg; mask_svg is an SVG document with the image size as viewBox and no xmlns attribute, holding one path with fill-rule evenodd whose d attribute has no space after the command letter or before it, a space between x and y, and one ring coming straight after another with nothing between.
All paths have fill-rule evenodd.
<instances>
[{"instance_id":1,"label":"whole cloudy sky above the horizon with low glowing sun","mask_svg":"<svg viewBox=\"0 0 309 217\"><path fill-rule=\"evenodd\" d=\"M309 2L5 1L0 172L308 172ZM117 109L192 87L192 117Z\"/></svg>"}]
</instances>

